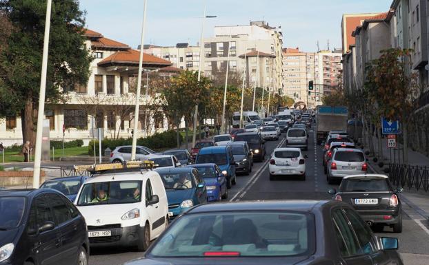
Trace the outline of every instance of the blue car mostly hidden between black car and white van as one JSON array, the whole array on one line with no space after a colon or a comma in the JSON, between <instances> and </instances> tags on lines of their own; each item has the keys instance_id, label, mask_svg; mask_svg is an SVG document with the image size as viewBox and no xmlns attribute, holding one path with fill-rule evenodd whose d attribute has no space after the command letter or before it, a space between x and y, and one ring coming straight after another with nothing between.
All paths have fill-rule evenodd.
<instances>
[{"instance_id":1,"label":"blue car mostly hidden between black car and white van","mask_svg":"<svg viewBox=\"0 0 429 265\"><path fill-rule=\"evenodd\" d=\"M43 182L39 189L56 189L66 195L70 201L74 202L79 189L88 178L88 176L52 178L52 180Z\"/></svg>"}]
</instances>

